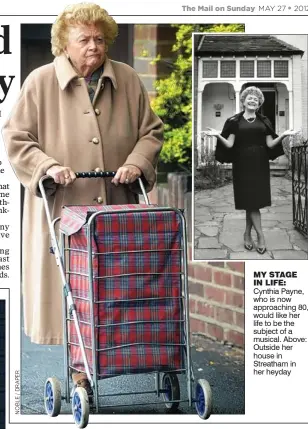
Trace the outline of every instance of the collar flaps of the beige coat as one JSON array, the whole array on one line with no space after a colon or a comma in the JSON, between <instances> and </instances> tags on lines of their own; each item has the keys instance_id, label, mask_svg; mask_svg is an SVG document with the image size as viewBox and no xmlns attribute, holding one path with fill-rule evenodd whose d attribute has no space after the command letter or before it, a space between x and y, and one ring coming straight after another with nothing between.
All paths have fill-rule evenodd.
<instances>
[{"instance_id":1,"label":"collar flaps of the beige coat","mask_svg":"<svg viewBox=\"0 0 308 429\"><path fill-rule=\"evenodd\" d=\"M63 53L59 57L54 59L54 66L56 70L56 76L60 85L60 88L64 90L67 85L73 80L78 78L78 74L72 67L71 63ZM109 78L113 84L114 89L118 88L117 79L114 74L111 60L106 57L104 62L103 79Z\"/></svg>"}]
</instances>

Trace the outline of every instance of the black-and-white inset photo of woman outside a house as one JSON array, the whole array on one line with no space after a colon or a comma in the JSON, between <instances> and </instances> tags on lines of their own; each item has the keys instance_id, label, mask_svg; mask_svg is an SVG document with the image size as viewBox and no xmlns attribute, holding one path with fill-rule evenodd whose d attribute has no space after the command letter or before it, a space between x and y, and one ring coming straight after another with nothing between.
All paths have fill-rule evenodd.
<instances>
[{"instance_id":1,"label":"black-and-white inset photo of woman outside a house","mask_svg":"<svg viewBox=\"0 0 308 429\"><path fill-rule=\"evenodd\" d=\"M194 259L308 259L307 36L193 35Z\"/></svg>"}]
</instances>

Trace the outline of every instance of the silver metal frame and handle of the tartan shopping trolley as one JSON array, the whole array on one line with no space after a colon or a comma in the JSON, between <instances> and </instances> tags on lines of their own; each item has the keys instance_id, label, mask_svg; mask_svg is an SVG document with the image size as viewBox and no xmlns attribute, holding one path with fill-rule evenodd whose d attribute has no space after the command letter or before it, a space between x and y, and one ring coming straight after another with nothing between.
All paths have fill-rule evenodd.
<instances>
[{"instance_id":1,"label":"silver metal frame and handle of the tartan shopping trolley","mask_svg":"<svg viewBox=\"0 0 308 429\"><path fill-rule=\"evenodd\" d=\"M85 172L85 173L76 173L77 178L82 177L113 177L115 175L115 172ZM124 395L131 395L131 394L148 394L148 393L156 393L159 397L160 394L166 393L165 389L162 389L160 387L160 374L159 371L152 371L155 374L155 390L151 391L141 391L141 392L119 392L116 394L108 394L108 395L99 395L98 394L98 374L97 374L97 341L96 341L96 335L95 335L95 328L97 325L95 325L94 321L94 287L93 287L93 265L92 265L92 255L93 255L93 249L92 249L92 235L94 232L94 226L95 226L95 220L97 216L102 214L110 214L115 213L114 211L97 211L94 212L90 218L87 221L87 253L88 253L88 278L89 278L89 290L90 290L90 320L91 320L91 335L92 335L92 367L93 367L93 376L91 375L91 371L89 368L89 362L86 356L85 352L85 345L83 342L83 338L80 331L79 326L79 318L76 311L76 306L74 304L74 298L72 296L72 290L70 287L69 282L67 281L67 272L66 272L66 266L65 266L65 252L67 250L70 250L69 248L65 247L65 234L60 231L60 238L57 239L57 233L56 233L56 224L60 221L60 217L52 220L51 214L49 211L48 206L48 200L44 188L44 181L50 178L49 176L43 176L39 181L39 189L43 198L43 203L45 207L47 222L50 230L51 235L51 245L52 245L52 251L55 254L56 263L60 270L61 275L61 281L63 286L63 334L64 334L64 379L65 379L65 395L61 398L64 399L67 403L70 402L72 396L70 394L70 377L69 377L69 369L70 366L68 364L69 361L69 341L68 341L68 320L74 321L76 333L78 336L79 341L79 347L81 349L81 354L85 366L85 373L87 375L87 378L91 384L91 387L93 389L93 408L98 413L99 412L99 398L104 396L124 396ZM144 185L139 179L139 185L144 197L144 200L147 205L149 205L148 196L145 192ZM123 214L123 213L141 213L141 212L175 212L179 216L180 223L181 223L181 272L178 273L181 276L181 296L178 299L183 300L183 314L184 314L184 332L182 335L182 338L184 338L185 342L184 344L176 344L184 348L184 355L186 361L185 368L179 368L177 370L171 370L168 372L174 372L174 373L186 373L186 383L187 383L187 396L188 399L185 400L178 400L178 401L170 401L172 403L174 402L188 402L189 406L192 406L192 403L195 402L195 399L192 395L192 383L194 382L194 376L193 376L193 370L192 370L192 361L191 361L191 350L190 350L190 329L189 329L189 291L188 291L188 261L187 261L187 233L186 233L186 220L183 215L183 212L176 208L169 208L169 207L150 207L149 208L138 208L138 209L130 209L130 210L117 210L117 214ZM71 315L72 319L69 319L67 316L68 314ZM127 374L122 374L127 375ZM114 376L121 376L119 375L113 375ZM165 403L168 401L165 400ZM152 404L161 404L161 402L147 402L147 403L140 403L140 404L130 404L130 405L152 405ZM105 407L112 407L114 405L105 405ZM127 404L117 404L116 406L127 406Z\"/></svg>"}]
</instances>

